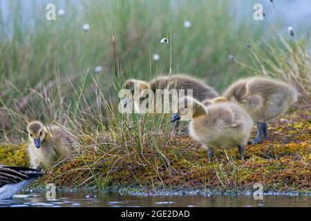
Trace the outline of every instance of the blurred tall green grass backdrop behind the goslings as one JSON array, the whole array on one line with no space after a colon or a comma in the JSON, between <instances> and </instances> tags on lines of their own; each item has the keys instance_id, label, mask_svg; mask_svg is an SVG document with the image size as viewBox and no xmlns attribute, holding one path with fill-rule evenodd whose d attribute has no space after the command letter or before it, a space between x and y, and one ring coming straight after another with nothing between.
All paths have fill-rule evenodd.
<instances>
[{"instance_id":1,"label":"blurred tall green grass backdrop behind the goslings","mask_svg":"<svg viewBox=\"0 0 311 221\"><path fill-rule=\"evenodd\" d=\"M100 119L105 118L99 104L107 99L117 106L113 86L114 1L29 0L27 8L18 0L6 3L10 19L0 15L1 131L14 125L23 133L26 114L62 123L68 112L96 112ZM46 3L55 3L57 10L64 8L65 14L48 21ZM293 71L296 76L303 72L307 77L300 76L301 85L307 93L305 101L310 101L310 33L302 31L293 41L281 18L272 22L267 15L265 21L254 21L253 8L241 15L237 3L117 1L114 30L120 76L150 80L156 74L167 74L171 57L173 73L200 77L221 93L240 77L270 75L295 83L296 77L285 72ZM274 8L273 3L267 6ZM191 28L184 27L185 20L191 21ZM88 31L82 29L84 23L90 25ZM160 44L170 32L171 49ZM251 48L245 47L247 44ZM294 50L295 55L292 47L300 47ZM281 50L283 53L278 53ZM291 62L301 53L305 56L295 61L297 74L296 69L291 70ZM153 60L154 54L160 55L159 61ZM95 73L96 66L103 67L100 73ZM100 98L98 93L102 94Z\"/></svg>"}]
</instances>

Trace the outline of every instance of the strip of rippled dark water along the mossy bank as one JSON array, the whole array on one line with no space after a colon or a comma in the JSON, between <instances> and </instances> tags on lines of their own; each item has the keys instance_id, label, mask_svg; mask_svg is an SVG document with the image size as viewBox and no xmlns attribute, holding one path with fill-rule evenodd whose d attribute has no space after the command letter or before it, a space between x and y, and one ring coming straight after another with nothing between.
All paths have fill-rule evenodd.
<instances>
[{"instance_id":1,"label":"strip of rippled dark water along the mossy bank","mask_svg":"<svg viewBox=\"0 0 311 221\"><path fill-rule=\"evenodd\" d=\"M124 207L124 206L311 206L310 196L263 196L254 200L252 195L240 196L175 196L175 197L138 197L131 195L102 194L90 195L85 192L57 193L55 200L47 200L45 193L22 193L11 200L0 200L0 206L11 207Z\"/></svg>"}]
</instances>

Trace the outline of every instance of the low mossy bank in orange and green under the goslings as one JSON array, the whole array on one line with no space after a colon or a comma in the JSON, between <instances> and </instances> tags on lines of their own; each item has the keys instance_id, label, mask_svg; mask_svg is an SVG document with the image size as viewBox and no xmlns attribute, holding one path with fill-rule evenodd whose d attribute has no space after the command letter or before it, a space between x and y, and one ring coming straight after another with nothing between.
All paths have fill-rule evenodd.
<instances>
[{"instance_id":1,"label":"low mossy bank in orange and green under the goslings","mask_svg":"<svg viewBox=\"0 0 311 221\"><path fill-rule=\"evenodd\" d=\"M216 151L214 161L209 163L200 144L180 135L159 138L158 148L145 147L141 153L86 148L79 157L50 169L40 182L73 187L128 186L135 191L173 187L238 191L260 182L266 190L310 191L309 116L291 113L271 122L270 140L247 145L244 163L237 149ZM25 144L2 147L0 153L2 164L28 165Z\"/></svg>"}]
</instances>

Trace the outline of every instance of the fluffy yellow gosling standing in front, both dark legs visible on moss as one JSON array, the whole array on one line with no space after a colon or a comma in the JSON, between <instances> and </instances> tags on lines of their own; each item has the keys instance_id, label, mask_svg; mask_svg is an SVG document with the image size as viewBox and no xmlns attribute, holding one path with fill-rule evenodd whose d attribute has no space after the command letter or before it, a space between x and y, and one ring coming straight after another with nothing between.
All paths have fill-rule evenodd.
<instances>
[{"instance_id":1,"label":"fluffy yellow gosling standing in front, both dark legs visible on moss","mask_svg":"<svg viewBox=\"0 0 311 221\"><path fill-rule=\"evenodd\" d=\"M254 122L243 109L232 102L204 106L191 97L182 98L171 122L191 118L189 134L202 148L207 149L209 162L214 156L214 148L238 147L244 161L244 146L247 144ZM185 105L181 105L185 104ZM189 116L189 111L192 116Z\"/></svg>"}]
</instances>

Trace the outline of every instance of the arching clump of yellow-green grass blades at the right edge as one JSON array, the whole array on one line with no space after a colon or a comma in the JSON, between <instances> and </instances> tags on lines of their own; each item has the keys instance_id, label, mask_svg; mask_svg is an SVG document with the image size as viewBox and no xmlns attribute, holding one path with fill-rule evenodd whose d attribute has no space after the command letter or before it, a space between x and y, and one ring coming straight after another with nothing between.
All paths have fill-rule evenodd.
<instances>
[{"instance_id":1,"label":"arching clump of yellow-green grass blades at the right edge","mask_svg":"<svg viewBox=\"0 0 311 221\"><path fill-rule=\"evenodd\" d=\"M275 30L263 48L250 48L254 66L241 66L254 73L281 79L299 90L300 103L311 101L311 48L306 39L290 37L286 32Z\"/></svg>"}]
</instances>

